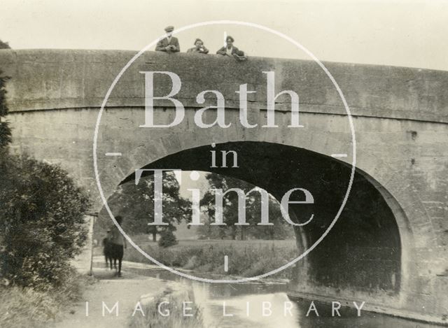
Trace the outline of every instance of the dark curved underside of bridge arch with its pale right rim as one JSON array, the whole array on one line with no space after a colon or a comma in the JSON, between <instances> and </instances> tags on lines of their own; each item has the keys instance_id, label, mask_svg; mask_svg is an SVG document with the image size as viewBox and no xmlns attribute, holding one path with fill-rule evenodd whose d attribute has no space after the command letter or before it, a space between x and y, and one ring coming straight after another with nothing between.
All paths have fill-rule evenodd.
<instances>
[{"instance_id":1,"label":"dark curved underside of bridge arch with its pale right rim","mask_svg":"<svg viewBox=\"0 0 448 328\"><path fill-rule=\"evenodd\" d=\"M244 163L244 160L241 160L238 169L212 169L209 165L211 150L216 152L220 150L236 150L241 159L246 158L248 162ZM288 154L286 163L283 161L286 157L282 156L285 154ZM312 159L304 159L304 157L312 157ZM149 164L141 165L139 169L171 168L182 169L183 171L209 171L245 180L248 183L264 188L279 199L286 190L292 187L304 187L306 185L307 188L310 188L309 190L312 190L309 187L312 185L310 185L309 180L306 181L305 179L305 181L299 182L301 179L294 177L295 174L297 176L300 175L302 167L309 166L315 169L306 174L310 174L316 179L325 177L325 179L331 180L341 175L344 176L344 181L333 181L333 183L330 183L330 186L346 187L348 183L346 177L351 169L349 164L304 148L295 148L279 143L266 143L265 141L230 141L228 143L220 143L214 148L206 144L179 152L167 152L167 155ZM299 167L300 170L295 171L294 168ZM325 171L327 167L329 171ZM330 171L335 171L337 175L332 176ZM274 178L270 178L269 175ZM287 180L288 183L282 182L282 179ZM134 170L128 171L127 176L125 175L125 178L122 180L118 178L116 181L126 183L132 180L134 180ZM365 189L366 185L369 185L368 190ZM330 186L325 185L325 188L331 189ZM350 215L347 216L346 213L349 213L350 208L351 211L356 213L356 211L362 211L363 208L368 207L370 202L374 201L373 198L376 197L372 197L372 194L374 194L373 190L377 192L377 201L381 202L377 215L384 215L384 218L375 218L372 214L370 214L370 217L367 215L367 217L363 218L372 220L370 225L358 227L356 224L359 225L359 220L350 217ZM344 191L339 190L337 197L332 199L332 201L340 201ZM414 238L409 220L393 195L372 176L360 169L356 169L352 192L353 195L365 192L364 195L370 195L370 199L356 198L356 196L354 197L355 199L352 196L349 197L346 205L349 210L342 212L339 222L333 227L334 230L330 231L328 236L325 237L327 240L325 241L324 239L321 245L302 259L302 262L297 264L296 279L293 280L293 283L300 286L298 289L300 294L333 294L335 297L345 297L346 299L353 297L353 294L363 294L365 299L375 301L375 303L379 298L381 298L382 304L388 304L389 306L405 303L407 294L403 291L407 290L409 286L409 272L414 270L412 267L413 263L409 260L412 257L410 253L414 249ZM328 193L321 195L320 199L317 196L316 205L319 201L328 199L328 197ZM357 207L356 203L360 201L363 203ZM328 203L331 204L331 201ZM309 213L309 211L305 212ZM325 213L328 212L325 211ZM335 211L332 214L334 215ZM295 213L295 216L300 216L300 210L299 213ZM329 224L330 221L328 219L323 220L319 224ZM318 227L319 229L316 231L316 227L315 225L310 228L295 229L297 247L300 250L306 250L309 245L314 243L316 238L320 237L320 235L316 236L316 233L321 234L323 230L321 227ZM369 229L367 235L366 228ZM344 231L352 231L353 234L346 234ZM356 238L356 234L359 234L359 238ZM357 241L353 241L353 238L356 238ZM367 240L367 238L370 239ZM339 249L330 253L331 256L342 257L340 265L337 263L339 259L332 262L330 261L331 257L328 258L325 254L332 248ZM348 248L350 248L349 252L346 250ZM360 258L351 261L349 257ZM363 259L362 257L367 258ZM325 267L324 265L328 266ZM335 270L331 272L329 270L330 267ZM375 268L379 269L379 271L376 271ZM315 276L318 278L316 279ZM358 276L358 279L356 276ZM349 285L343 285L348 281L350 281ZM337 290L344 290L345 292L341 293L337 292Z\"/></svg>"}]
</instances>

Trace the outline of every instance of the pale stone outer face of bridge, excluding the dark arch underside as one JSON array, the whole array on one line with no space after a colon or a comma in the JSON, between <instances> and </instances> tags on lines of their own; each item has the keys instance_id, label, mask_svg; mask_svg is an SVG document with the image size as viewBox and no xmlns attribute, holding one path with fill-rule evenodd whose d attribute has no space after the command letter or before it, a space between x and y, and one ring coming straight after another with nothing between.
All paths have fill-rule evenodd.
<instances>
[{"instance_id":1,"label":"pale stone outer face of bridge, excluding the dark arch underside","mask_svg":"<svg viewBox=\"0 0 448 328\"><path fill-rule=\"evenodd\" d=\"M133 52L89 50L0 50L8 83L8 120L13 150L59 163L99 201L92 170L94 122L104 94ZM386 66L325 63L339 83L353 114L356 167L377 186L395 214L402 242L398 297L369 299L377 311L443 322L448 309L448 73ZM137 129L144 118L144 80L139 71L174 71L181 76L179 99L186 119L163 131ZM237 122L238 85L258 90L249 98L252 122L265 122L265 75L276 72L276 90L300 94L300 131L290 129L198 129L193 116L202 90L220 90L226 115ZM157 92L171 85L161 80ZM276 120L287 122L288 99L276 104ZM207 100L212 103L213 99ZM171 102L160 104L156 119L174 117ZM209 117L210 120L213 117ZM321 70L312 62L251 58L237 63L209 55L148 52L123 75L111 94L99 134L99 168L109 195L134 169L167 155L211 142L266 141L293 145L323 155L348 152L351 136L344 107ZM105 157L123 152L123 157ZM291 294L311 290L291 285ZM350 299L352 291L339 292ZM369 295L365 295L369 297ZM368 302L367 302L368 303ZM382 306L381 306L382 304ZM388 310L389 309L389 310ZM429 318L429 319L428 319ZM445 318L445 319L443 319Z\"/></svg>"}]
</instances>

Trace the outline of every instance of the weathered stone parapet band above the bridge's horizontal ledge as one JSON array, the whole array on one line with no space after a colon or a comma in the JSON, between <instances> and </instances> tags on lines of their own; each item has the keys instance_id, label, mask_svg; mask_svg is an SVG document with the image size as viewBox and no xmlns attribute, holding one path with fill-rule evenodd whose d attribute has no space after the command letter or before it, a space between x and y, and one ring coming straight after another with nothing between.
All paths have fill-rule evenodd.
<instances>
[{"instance_id":1,"label":"weathered stone parapet band above the bridge's horizontal ledge","mask_svg":"<svg viewBox=\"0 0 448 328\"><path fill-rule=\"evenodd\" d=\"M134 55L133 51L118 50L0 50L3 71L27 81L8 87L10 110L98 107L114 78ZM448 122L448 95L440 92L448 88L448 76L443 71L324 64L343 90L353 115ZM248 83L248 90L253 87L257 91L249 95L250 106L265 108L266 76L262 71L272 70L276 72L276 90L297 90L302 110L346 113L329 78L314 62L259 57L235 62L217 55L198 59L161 52L146 52L125 71L109 106L142 106L144 76L139 71L167 70L181 77L184 85L179 98L186 106L201 107L195 97L211 86L220 90L230 104L237 102L239 84ZM170 88L169 78L160 76L160 94L167 94ZM287 100L279 99L278 108L288 110ZM172 106L171 102L167 106Z\"/></svg>"}]
</instances>

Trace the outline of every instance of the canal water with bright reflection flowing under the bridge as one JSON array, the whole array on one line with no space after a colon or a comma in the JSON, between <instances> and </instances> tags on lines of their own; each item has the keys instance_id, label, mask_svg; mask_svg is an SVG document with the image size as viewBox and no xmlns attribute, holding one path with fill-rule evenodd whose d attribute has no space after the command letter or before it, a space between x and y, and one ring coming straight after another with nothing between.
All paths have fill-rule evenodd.
<instances>
[{"instance_id":1,"label":"canal water with bright reflection flowing under the bridge","mask_svg":"<svg viewBox=\"0 0 448 328\"><path fill-rule=\"evenodd\" d=\"M311 300L290 301L286 283L201 283L181 278L163 269L133 269L144 276L176 280L193 290L193 304L200 307L206 327L219 328L435 328L412 320L340 308L332 316L331 306ZM338 301L335 299L335 301ZM360 304L359 304L360 305ZM309 308L311 306L311 311ZM264 310L263 310L264 308ZM308 315L307 315L308 313ZM318 313L318 316L317 314Z\"/></svg>"}]
</instances>

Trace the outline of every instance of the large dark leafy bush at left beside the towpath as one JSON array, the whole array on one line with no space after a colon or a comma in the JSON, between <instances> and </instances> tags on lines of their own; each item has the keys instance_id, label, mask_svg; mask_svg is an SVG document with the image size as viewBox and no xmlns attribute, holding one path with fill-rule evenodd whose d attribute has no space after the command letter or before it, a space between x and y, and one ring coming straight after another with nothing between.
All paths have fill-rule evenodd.
<instances>
[{"instance_id":1,"label":"large dark leafy bush at left beside the towpath","mask_svg":"<svg viewBox=\"0 0 448 328\"><path fill-rule=\"evenodd\" d=\"M59 166L0 158L1 274L13 285L61 285L85 238L90 204Z\"/></svg>"}]
</instances>

